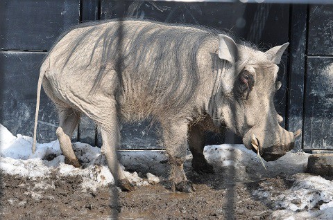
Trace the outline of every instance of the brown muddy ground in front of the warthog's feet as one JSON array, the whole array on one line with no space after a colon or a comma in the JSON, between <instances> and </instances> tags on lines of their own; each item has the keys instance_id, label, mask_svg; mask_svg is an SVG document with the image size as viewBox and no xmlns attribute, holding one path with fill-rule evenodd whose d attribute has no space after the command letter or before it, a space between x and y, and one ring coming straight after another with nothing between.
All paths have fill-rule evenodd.
<instances>
[{"instance_id":1,"label":"brown muddy ground in front of the warthog's feet","mask_svg":"<svg viewBox=\"0 0 333 220\"><path fill-rule=\"evenodd\" d=\"M22 178L1 175L1 219L271 219L273 207L253 192L262 185L275 193L292 183L283 176L234 181L228 167L215 174L187 170L196 192L171 192L168 182L133 192L101 187L83 192L80 176ZM118 198L117 198L118 197Z\"/></svg>"}]
</instances>

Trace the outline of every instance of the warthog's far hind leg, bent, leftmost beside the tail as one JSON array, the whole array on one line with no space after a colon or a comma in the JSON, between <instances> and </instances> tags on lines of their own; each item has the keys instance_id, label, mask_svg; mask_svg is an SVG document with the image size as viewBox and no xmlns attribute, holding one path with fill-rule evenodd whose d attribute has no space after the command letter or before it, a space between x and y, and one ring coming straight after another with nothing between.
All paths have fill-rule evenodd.
<instances>
[{"instance_id":1,"label":"warthog's far hind leg, bent, leftmost beside the tail","mask_svg":"<svg viewBox=\"0 0 333 220\"><path fill-rule=\"evenodd\" d=\"M76 158L73 147L71 147L71 136L73 135L76 125L78 125L80 113L73 109L61 109L59 115L60 125L56 134L58 136L61 152L65 156L65 162L74 165L74 167L80 167L78 158Z\"/></svg>"}]
</instances>

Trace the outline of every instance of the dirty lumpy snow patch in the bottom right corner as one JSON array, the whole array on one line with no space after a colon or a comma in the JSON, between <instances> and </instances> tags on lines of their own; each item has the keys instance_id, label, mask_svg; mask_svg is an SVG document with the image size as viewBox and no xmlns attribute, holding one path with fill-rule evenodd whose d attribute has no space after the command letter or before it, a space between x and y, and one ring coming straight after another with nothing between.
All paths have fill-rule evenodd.
<instances>
[{"instance_id":1,"label":"dirty lumpy snow patch in the bottom right corner","mask_svg":"<svg viewBox=\"0 0 333 220\"><path fill-rule=\"evenodd\" d=\"M293 185L284 192L271 192L269 187L253 195L271 202L276 219L304 219L333 216L333 181L312 174L294 174L287 178ZM281 210L283 209L283 211ZM293 217L293 218L291 218Z\"/></svg>"}]
</instances>

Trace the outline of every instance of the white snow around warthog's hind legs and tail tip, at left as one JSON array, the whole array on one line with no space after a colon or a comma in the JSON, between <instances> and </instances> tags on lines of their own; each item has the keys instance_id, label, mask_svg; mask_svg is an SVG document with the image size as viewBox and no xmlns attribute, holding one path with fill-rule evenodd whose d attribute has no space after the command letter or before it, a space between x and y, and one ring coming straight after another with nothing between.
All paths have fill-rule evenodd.
<instances>
[{"instance_id":1,"label":"white snow around warthog's hind legs and tail tip, at left","mask_svg":"<svg viewBox=\"0 0 333 220\"><path fill-rule=\"evenodd\" d=\"M51 143L37 143L36 152L32 154L31 145L33 138L20 134L15 137L1 124L0 135L0 169L5 174L28 178L49 178L52 172L56 172L60 176L80 176L83 178L83 182L81 183L83 191L88 189L96 190L98 187L114 184L114 178L105 163L105 158L101 156L101 149L99 147L92 147L79 142L73 143L72 146L76 152L76 156L78 156L84 167L76 168L65 164L65 156L61 155L58 140ZM135 158L141 158L142 160L141 163L133 163L137 166L139 164L142 165L144 163L142 161L165 159L165 156L160 153L154 153L151 156L144 155L144 152L138 153L138 157ZM130 157L127 160L123 158L122 161L132 162L134 156L131 153L125 154L130 155ZM136 172L130 173L125 171L125 175L137 186L149 184L147 179L140 178Z\"/></svg>"}]
</instances>

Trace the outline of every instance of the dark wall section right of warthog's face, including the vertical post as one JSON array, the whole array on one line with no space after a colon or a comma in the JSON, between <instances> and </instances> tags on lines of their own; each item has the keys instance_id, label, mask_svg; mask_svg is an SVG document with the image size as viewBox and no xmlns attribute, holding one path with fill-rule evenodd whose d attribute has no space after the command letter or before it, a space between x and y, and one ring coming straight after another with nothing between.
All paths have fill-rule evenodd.
<instances>
[{"instance_id":1,"label":"dark wall section right of warthog's face, including the vertical post","mask_svg":"<svg viewBox=\"0 0 333 220\"><path fill-rule=\"evenodd\" d=\"M333 149L333 5L291 6L287 128L303 150Z\"/></svg>"}]
</instances>

